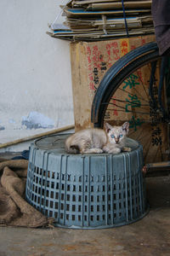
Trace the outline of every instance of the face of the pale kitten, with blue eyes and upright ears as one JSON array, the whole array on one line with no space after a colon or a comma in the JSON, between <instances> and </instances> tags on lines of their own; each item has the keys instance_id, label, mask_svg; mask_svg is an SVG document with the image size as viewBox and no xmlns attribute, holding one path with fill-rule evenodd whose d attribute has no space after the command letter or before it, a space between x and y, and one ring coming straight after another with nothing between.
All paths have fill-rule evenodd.
<instances>
[{"instance_id":1,"label":"face of the pale kitten, with blue eyes and upright ears","mask_svg":"<svg viewBox=\"0 0 170 256\"><path fill-rule=\"evenodd\" d=\"M105 131L107 133L110 143L121 143L123 138L127 135L128 126L128 122L125 122L122 126L111 126L108 123L105 123Z\"/></svg>"}]
</instances>

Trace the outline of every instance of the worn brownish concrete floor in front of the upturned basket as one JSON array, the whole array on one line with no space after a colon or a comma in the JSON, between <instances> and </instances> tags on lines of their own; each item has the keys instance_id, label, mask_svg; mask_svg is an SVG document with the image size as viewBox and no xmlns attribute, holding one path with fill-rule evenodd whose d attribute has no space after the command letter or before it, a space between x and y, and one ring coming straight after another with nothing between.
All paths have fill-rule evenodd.
<instances>
[{"instance_id":1,"label":"worn brownish concrete floor in front of the upturned basket","mask_svg":"<svg viewBox=\"0 0 170 256\"><path fill-rule=\"evenodd\" d=\"M146 183L150 212L138 222L105 230L0 227L0 256L169 256L170 176Z\"/></svg>"}]
</instances>

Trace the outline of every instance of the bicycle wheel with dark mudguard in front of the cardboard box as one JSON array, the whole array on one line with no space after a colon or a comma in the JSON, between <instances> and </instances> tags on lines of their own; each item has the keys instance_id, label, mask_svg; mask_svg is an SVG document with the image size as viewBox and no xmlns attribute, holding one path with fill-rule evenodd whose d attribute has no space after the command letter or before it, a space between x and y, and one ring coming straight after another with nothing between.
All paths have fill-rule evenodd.
<instances>
[{"instance_id":1,"label":"bicycle wheel with dark mudguard in front of the cardboard box","mask_svg":"<svg viewBox=\"0 0 170 256\"><path fill-rule=\"evenodd\" d=\"M94 127L129 120L129 137L142 143L145 162L169 157L167 92L159 86L161 62L156 43L132 50L105 73L92 105Z\"/></svg>"}]
</instances>

